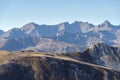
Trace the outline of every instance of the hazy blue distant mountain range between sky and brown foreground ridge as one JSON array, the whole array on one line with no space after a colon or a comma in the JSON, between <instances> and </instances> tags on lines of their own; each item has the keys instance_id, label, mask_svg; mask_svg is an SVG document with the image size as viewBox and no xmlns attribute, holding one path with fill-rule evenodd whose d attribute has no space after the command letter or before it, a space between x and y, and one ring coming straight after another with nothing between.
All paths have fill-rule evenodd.
<instances>
[{"instance_id":1,"label":"hazy blue distant mountain range between sky and brown foreground ridge","mask_svg":"<svg viewBox=\"0 0 120 80\"><path fill-rule=\"evenodd\" d=\"M120 25L109 21L93 25L75 21L56 25L28 23L9 31L0 30L0 49L8 51L81 52L91 45L120 46Z\"/></svg>"}]
</instances>

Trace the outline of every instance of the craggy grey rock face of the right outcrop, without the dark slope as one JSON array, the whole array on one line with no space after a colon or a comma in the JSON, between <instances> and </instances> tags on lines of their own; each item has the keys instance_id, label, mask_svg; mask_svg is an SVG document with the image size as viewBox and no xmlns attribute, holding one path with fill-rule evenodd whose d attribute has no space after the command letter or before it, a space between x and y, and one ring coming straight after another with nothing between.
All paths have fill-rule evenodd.
<instances>
[{"instance_id":1,"label":"craggy grey rock face of the right outcrop, without the dark slope","mask_svg":"<svg viewBox=\"0 0 120 80\"><path fill-rule=\"evenodd\" d=\"M106 44L99 43L89 49L89 54L96 64L120 70L119 47L114 48Z\"/></svg>"}]
</instances>

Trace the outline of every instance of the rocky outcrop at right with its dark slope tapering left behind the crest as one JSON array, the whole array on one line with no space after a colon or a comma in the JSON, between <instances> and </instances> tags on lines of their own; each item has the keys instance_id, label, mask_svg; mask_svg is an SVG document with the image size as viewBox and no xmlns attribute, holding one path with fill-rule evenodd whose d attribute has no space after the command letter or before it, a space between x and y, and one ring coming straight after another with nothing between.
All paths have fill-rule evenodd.
<instances>
[{"instance_id":1,"label":"rocky outcrop at right with its dark slope tapering left behind the crest","mask_svg":"<svg viewBox=\"0 0 120 80\"><path fill-rule=\"evenodd\" d=\"M98 43L84 52L61 53L60 55L120 70L120 47L110 47L104 43Z\"/></svg>"}]
</instances>

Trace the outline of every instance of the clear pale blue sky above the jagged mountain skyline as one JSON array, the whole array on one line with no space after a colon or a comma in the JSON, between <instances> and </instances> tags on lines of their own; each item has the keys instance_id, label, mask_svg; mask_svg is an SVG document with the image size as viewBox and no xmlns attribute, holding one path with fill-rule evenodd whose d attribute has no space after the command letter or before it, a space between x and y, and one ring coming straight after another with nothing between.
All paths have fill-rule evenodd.
<instances>
[{"instance_id":1,"label":"clear pale blue sky above the jagged mountain skyline","mask_svg":"<svg viewBox=\"0 0 120 80\"><path fill-rule=\"evenodd\" d=\"M120 24L120 0L0 0L0 29L69 21Z\"/></svg>"}]
</instances>

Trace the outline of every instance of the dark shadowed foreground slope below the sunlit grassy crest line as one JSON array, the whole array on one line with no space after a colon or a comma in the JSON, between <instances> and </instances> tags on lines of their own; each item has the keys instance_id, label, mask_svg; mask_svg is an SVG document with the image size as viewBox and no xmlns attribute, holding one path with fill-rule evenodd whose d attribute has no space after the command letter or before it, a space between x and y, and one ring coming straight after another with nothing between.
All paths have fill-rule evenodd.
<instances>
[{"instance_id":1,"label":"dark shadowed foreground slope below the sunlit grassy crest line","mask_svg":"<svg viewBox=\"0 0 120 80\"><path fill-rule=\"evenodd\" d=\"M23 57L0 66L0 80L119 80L120 72L47 57Z\"/></svg>"}]
</instances>

